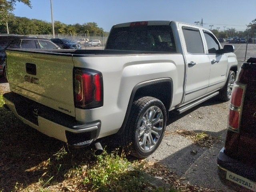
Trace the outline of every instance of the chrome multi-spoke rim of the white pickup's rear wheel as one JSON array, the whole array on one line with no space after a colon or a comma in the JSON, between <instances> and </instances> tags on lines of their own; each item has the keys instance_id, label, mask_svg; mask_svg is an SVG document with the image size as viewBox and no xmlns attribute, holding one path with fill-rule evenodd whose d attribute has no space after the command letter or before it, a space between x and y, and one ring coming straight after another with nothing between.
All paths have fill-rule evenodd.
<instances>
[{"instance_id":1,"label":"chrome multi-spoke rim of the white pickup's rear wheel","mask_svg":"<svg viewBox=\"0 0 256 192\"><path fill-rule=\"evenodd\" d=\"M151 106L138 121L138 146L148 151L154 148L161 137L164 126L162 110Z\"/></svg>"}]
</instances>

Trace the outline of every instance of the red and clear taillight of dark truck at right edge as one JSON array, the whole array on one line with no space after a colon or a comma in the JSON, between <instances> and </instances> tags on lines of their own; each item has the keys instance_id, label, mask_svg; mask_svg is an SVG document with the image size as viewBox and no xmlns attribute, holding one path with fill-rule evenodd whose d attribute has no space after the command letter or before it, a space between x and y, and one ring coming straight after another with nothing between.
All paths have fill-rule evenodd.
<instances>
[{"instance_id":1,"label":"red and clear taillight of dark truck at right edge","mask_svg":"<svg viewBox=\"0 0 256 192\"><path fill-rule=\"evenodd\" d=\"M245 91L246 84L234 83L228 114L228 129L234 132L239 132Z\"/></svg>"}]
</instances>

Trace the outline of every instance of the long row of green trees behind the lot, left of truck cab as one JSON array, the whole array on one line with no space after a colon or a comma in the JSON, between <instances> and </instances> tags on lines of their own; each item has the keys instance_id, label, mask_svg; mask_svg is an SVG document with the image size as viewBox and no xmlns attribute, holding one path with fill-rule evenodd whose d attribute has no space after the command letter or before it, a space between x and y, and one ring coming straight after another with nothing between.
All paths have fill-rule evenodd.
<instances>
[{"instance_id":1,"label":"long row of green trees behind the lot, left of truck cab","mask_svg":"<svg viewBox=\"0 0 256 192\"><path fill-rule=\"evenodd\" d=\"M26 17L12 17L8 21L10 34L52 34L52 23L38 19L29 19ZM60 21L54 22L55 34L94 34L97 36L107 36L108 32L104 32L96 22L88 22L84 24L64 24ZM7 33L6 24L0 25L0 33Z\"/></svg>"}]
</instances>

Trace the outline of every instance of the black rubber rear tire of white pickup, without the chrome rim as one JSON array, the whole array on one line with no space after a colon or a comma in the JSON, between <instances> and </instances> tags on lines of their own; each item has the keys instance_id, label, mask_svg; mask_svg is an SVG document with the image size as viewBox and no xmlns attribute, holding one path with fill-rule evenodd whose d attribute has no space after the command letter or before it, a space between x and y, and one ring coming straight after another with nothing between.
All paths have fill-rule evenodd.
<instances>
[{"instance_id":1,"label":"black rubber rear tire of white pickup, without the chrome rim","mask_svg":"<svg viewBox=\"0 0 256 192\"><path fill-rule=\"evenodd\" d=\"M145 149L146 149L146 142L150 142L149 149L143 150L142 146L139 145L139 142L142 141L141 138L138 138L139 127L140 128L142 127L140 126L140 122L142 123L142 119L146 115L146 112L150 112L149 111L150 109L153 109L153 111L155 111L154 115L156 116L156 118L159 117L162 112L162 115L161 115L162 120L159 123L159 127L160 126L162 127L162 131L160 132L160 135L158 135L159 137L156 136L155 138L153 138L155 134L151 132L151 128L150 130L147 130L146 127L148 126L144 126L145 127L144 130L140 129L140 131L141 130L144 131L144 134L142 136L144 136L144 139L145 139L145 145L144 145ZM152 121L153 119L156 120L156 118L154 118L155 116L152 117ZM146 120L146 118L144 118L144 120ZM166 128L166 109L164 107L164 104L157 98L153 98L153 97L146 96L146 97L139 98L138 100L134 101L132 104L132 108L128 117L126 128L124 130L124 133L122 134L122 145L125 146L125 150L129 152L132 156L135 156L136 158L140 158L140 159L146 158L150 156L160 145L162 138L164 136L165 128ZM148 137L147 136L145 137L145 135L147 135ZM150 137L152 138L152 141L154 142L156 141L156 143L153 143L152 148L151 148L152 141L150 140Z\"/></svg>"}]
</instances>

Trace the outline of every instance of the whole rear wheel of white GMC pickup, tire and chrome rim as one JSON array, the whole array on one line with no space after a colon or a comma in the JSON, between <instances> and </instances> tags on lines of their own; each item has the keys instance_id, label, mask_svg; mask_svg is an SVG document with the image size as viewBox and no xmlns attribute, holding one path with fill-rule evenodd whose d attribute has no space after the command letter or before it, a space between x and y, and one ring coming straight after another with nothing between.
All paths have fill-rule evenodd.
<instances>
[{"instance_id":1,"label":"whole rear wheel of white GMC pickup, tire and chrome rim","mask_svg":"<svg viewBox=\"0 0 256 192\"><path fill-rule=\"evenodd\" d=\"M150 156L162 142L166 127L164 104L153 97L133 102L122 142L137 158Z\"/></svg>"}]
</instances>

